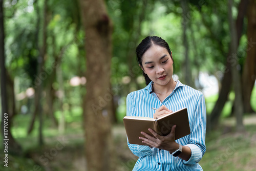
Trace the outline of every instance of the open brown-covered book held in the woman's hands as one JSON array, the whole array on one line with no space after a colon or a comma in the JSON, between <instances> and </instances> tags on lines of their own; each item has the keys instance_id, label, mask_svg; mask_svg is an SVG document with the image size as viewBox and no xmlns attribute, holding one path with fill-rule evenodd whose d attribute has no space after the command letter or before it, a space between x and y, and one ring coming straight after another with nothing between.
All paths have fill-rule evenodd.
<instances>
[{"instance_id":1,"label":"open brown-covered book held in the woman's hands","mask_svg":"<svg viewBox=\"0 0 256 171\"><path fill-rule=\"evenodd\" d=\"M125 116L123 123L129 143L131 144L146 145L142 143L139 137L144 137L140 132L145 132L153 136L151 132L148 131L149 128L161 136L166 136L172 130L172 126L176 125L175 140L190 134L186 108L165 115L159 119Z\"/></svg>"}]
</instances>

